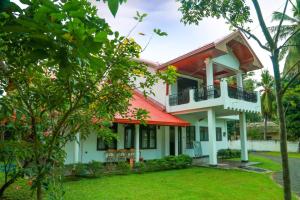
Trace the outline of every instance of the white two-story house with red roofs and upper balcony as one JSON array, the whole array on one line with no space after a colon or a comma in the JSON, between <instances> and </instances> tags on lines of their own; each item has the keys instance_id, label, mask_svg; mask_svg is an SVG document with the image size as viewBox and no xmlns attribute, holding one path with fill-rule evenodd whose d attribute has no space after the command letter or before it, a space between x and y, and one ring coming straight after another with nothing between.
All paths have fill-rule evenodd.
<instances>
[{"instance_id":1,"label":"white two-story house with red roofs and upper balcony","mask_svg":"<svg viewBox=\"0 0 300 200\"><path fill-rule=\"evenodd\" d=\"M66 163L108 162L134 158L157 159L168 155L208 156L217 165L217 151L228 148L227 121L239 120L241 160L248 161L246 112L260 112L258 92L243 89L242 75L262 64L240 32L207 44L162 65L143 61L149 70L176 67L179 77L172 85L160 82L155 95L145 98L135 91L132 108L149 112L147 126L138 120L116 117L112 126L117 139L105 143L91 134L66 146ZM226 78L236 77L228 86ZM128 156L127 156L128 155Z\"/></svg>"}]
</instances>

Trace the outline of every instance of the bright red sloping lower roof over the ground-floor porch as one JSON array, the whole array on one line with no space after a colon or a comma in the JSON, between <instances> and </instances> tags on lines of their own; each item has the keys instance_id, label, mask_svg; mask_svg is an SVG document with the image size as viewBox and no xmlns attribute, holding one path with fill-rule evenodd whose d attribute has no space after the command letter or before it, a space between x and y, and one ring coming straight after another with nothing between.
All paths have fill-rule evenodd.
<instances>
[{"instance_id":1,"label":"bright red sloping lower roof over the ground-floor porch","mask_svg":"<svg viewBox=\"0 0 300 200\"><path fill-rule=\"evenodd\" d=\"M190 123L182 120L174 115L165 112L164 106L160 105L150 97L146 98L138 91L134 92L134 95L130 101L131 106L128 109L128 115L135 109L141 108L148 111L147 124L161 125L161 126L189 126ZM116 115L114 122L121 124L140 124L140 120Z\"/></svg>"}]
</instances>

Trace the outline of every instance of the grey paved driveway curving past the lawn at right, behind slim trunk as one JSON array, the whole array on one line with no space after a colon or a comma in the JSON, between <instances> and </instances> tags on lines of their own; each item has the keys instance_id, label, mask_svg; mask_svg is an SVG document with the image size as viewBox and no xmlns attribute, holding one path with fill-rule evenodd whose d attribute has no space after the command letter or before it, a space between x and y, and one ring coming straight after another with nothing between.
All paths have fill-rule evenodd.
<instances>
[{"instance_id":1,"label":"grey paved driveway curving past the lawn at right, behind slim trunk","mask_svg":"<svg viewBox=\"0 0 300 200\"><path fill-rule=\"evenodd\" d=\"M263 153L257 154L281 163L281 158L279 156L270 156ZM292 190L300 196L300 158L289 158L289 168ZM276 172L274 174L274 179L282 185L282 172Z\"/></svg>"}]
</instances>

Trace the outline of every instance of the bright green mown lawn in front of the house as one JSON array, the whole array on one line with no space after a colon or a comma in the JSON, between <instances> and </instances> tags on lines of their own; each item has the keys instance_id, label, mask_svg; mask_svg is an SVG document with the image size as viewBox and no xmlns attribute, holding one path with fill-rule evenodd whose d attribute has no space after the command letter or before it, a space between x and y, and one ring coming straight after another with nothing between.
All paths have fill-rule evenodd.
<instances>
[{"instance_id":1,"label":"bright green mown lawn in front of the house","mask_svg":"<svg viewBox=\"0 0 300 200\"><path fill-rule=\"evenodd\" d=\"M211 168L85 179L65 189L68 200L282 199L282 189L267 175Z\"/></svg>"}]
</instances>

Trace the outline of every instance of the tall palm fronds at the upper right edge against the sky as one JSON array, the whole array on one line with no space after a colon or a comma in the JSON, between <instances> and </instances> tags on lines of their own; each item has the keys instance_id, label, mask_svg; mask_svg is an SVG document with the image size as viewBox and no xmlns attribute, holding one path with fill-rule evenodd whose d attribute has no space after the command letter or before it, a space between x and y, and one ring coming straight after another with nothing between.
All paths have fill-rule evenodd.
<instances>
[{"instance_id":1,"label":"tall palm fronds at the upper right edge against the sky","mask_svg":"<svg viewBox=\"0 0 300 200\"><path fill-rule=\"evenodd\" d=\"M292 1L291 1L292 3ZM286 57L284 71L286 75L294 74L300 72L300 0L296 0L292 3L293 17L283 14L281 12L273 13L273 20L280 21L283 19L283 25L279 38L281 40L286 40L288 37L292 36L288 43L282 48L280 59ZM270 31L276 33L278 26L273 26Z\"/></svg>"}]
</instances>

